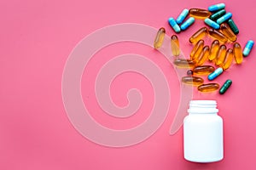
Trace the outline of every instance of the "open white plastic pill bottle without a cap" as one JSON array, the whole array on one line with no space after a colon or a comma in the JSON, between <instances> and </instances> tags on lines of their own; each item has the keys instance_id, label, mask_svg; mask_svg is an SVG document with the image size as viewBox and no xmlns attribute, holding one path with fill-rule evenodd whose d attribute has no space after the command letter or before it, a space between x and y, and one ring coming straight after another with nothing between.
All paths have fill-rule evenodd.
<instances>
[{"instance_id":1,"label":"open white plastic pill bottle without a cap","mask_svg":"<svg viewBox=\"0 0 256 170\"><path fill-rule=\"evenodd\" d=\"M223 120L215 100L191 100L183 122L184 158L213 162L224 158Z\"/></svg>"}]
</instances>

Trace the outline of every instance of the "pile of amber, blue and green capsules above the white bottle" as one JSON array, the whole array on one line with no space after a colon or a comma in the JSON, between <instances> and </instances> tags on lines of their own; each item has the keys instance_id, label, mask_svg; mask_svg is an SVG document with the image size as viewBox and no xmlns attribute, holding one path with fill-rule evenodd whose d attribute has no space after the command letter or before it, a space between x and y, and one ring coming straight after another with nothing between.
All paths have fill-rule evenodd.
<instances>
[{"instance_id":1,"label":"pile of amber, blue and green capsules above the white bottle","mask_svg":"<svg viewBox=\"0 0 256 170\"><path fill-rule=\"evenodd\" d=\"M207 26L202 27L189 38L189 42L195 44L190 53L190 59L174 59L174 65L177 65L177 67L190 68L187 72L188 76L183 77L182 82L198 86L197 88L201 92L218 90L219 85L218 83L204 84L203 78L195 77L193 76L194 74L208 75L208 80L212 81L222 74L224 70L230 68L230 65L233 63L233 58L235 58L236 64L241 64L243 56L247 57L253 48L254 42L249 40L243 51L241 50L240 43L236 42L236 35L239 33L239 30L234 20L231 19L232 14L230 12L226 13L224 8L224 3L214 4L208 7L208 10L201 8L185 8L182 13L179 14L177 20L173 18L168 20L172 29L177 33L188 29L189 26L195 22L195 18L203 19L205 24L210 26L209 29ZM188 15L189 19L185 20ZM183 20L185 21L183 22ZM160 48L165 33L165 28L160 28L154 40L154 48ZM214 39L211 47L204 44L203 38L207 35ZM226 42L232 42L233 48L227 49L225 45ZM180 49L176 35L172 35L171 37L171 48L172 54L179 56ZM218 68L215 69L212 65L204 65L207 59ZM231 80L224 82L224 85L219 89L219 94L224 94L226 90L230 88L231 84Z\"/></svg>"}]
</instances>

